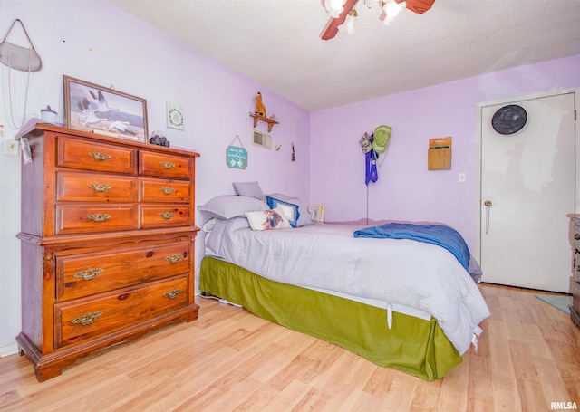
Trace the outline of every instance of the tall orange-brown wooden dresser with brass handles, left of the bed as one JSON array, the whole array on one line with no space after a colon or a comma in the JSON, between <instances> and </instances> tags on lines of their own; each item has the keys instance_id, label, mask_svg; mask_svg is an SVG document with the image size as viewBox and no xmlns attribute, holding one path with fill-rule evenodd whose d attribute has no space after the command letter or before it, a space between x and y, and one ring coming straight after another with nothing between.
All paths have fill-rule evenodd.
<instances>
[{"instance_id":1,"label":"tall orange-brown wooden dresser with brass handles, left of the bed","mask_svg":"<svg viewBox=\"0 0 580 412\"><path fill-rule=\"evenodd\" d=\"M42 381L194 321L198 153L38 124L23 132L21 354Z\"/></svg>"}]
</instances>

